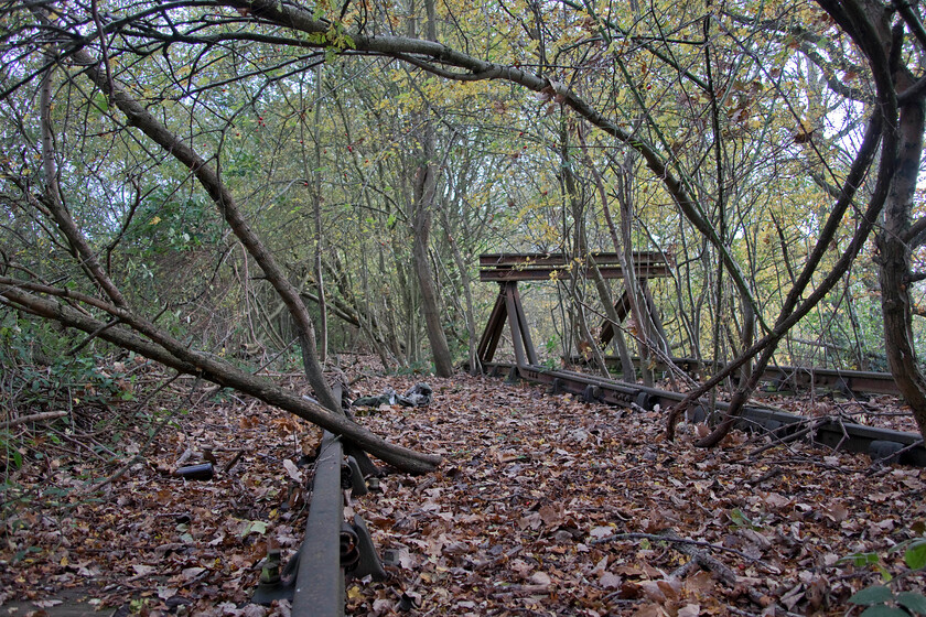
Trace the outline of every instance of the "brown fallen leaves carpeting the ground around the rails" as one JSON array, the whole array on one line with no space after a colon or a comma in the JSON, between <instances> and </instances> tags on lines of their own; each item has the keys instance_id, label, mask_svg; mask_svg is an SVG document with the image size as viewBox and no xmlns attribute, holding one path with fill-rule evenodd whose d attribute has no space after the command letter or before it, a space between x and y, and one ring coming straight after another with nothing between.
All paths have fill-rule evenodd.
<instances>
[{"instance_id":1,"label":"brown fallen leaves carpeting the ground around the rails","mask_svg":"<svg viewBox=\"0 0 926 617\"><path fill-rule=\"evenodd\" d=\"M355 371L362 394L421 380ZM742 433L697 450L685 434L665 440L659 411L494 378L427 380L429 407L358 418L444 463L391 473L351 504L389 578L348 581L348 615L842 615L880 572L904 572L891 549L926 527L924 469L805 443L763 448L768 437ZM248 598L268 542L288 556L302 540L311 472L299 462L319 431L234 397L174 422L96 494L87 478L112 469L91 457L52 452L9 475L22 491L4 496L0 602L41 616L76 589L117 615L289 614ZM139 452L134 439L126 452ZM212 458L215 477L171 475L184 456ZM844 560L868 553L876 567ZM924 587L918 572L898 589Z\"/></svg>"}]
</instances>

